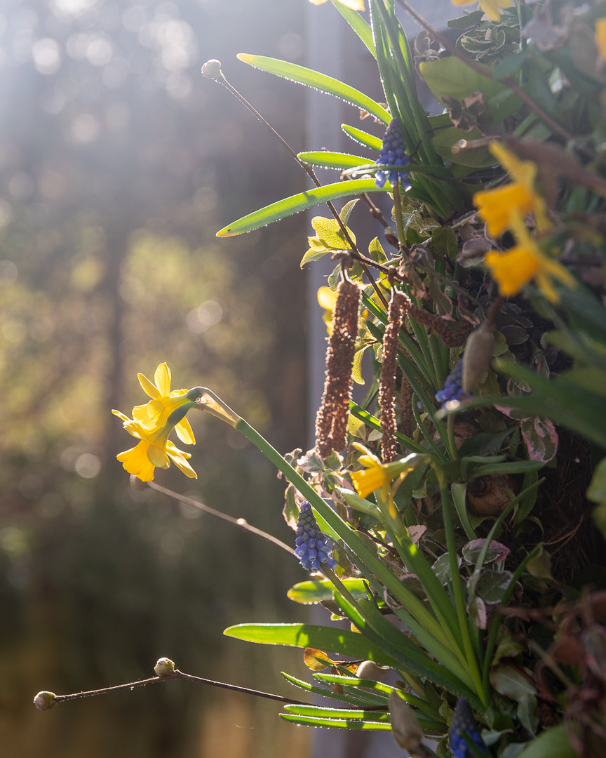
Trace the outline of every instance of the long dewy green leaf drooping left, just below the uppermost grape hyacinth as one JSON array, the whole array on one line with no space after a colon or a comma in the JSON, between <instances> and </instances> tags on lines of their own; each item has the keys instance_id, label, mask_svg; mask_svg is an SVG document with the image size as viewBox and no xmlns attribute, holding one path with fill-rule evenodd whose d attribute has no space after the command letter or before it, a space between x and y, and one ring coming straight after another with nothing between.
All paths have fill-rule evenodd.
<instances>
[{"instance_id":1,"label":"long dewy green leaf drooping left, just below the uppermost grape hyacinth","mask_svg":"<svg viewBox=\"0 0 606 758\"><path fill-rule=\"evenodd\" d=\"M300 211L306 211L308 208L314 208L315 205L320 205L323 202L335 200L339 197L349 197L351 195L359 195L365 192L382 191L383 190L376 189L373 179L355 179L351 182L336 182L321 187L314 187L314 189L308 189L307 192L301 192L297 195L286 197L283 200L271 203L271 205L266 205L258 211L242 216L242 218L239 218L237 221L233 221L233 223L227 224L226 227L220 229L217 232L217 236L236 236L236 234L250 232L254 229L267 226L267 224L273 224L274 221L280 221L282 218L292 216Z\"/></svg>"}]
</instances>

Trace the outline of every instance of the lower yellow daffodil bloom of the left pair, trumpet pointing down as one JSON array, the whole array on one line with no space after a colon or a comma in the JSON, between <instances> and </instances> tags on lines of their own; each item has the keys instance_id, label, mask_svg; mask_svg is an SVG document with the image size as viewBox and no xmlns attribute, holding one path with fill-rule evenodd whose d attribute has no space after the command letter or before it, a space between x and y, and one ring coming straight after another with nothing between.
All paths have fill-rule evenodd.
<instances>
[{"instance_id":1,"label":"lower yellow daffodil bloom of the left pair, trumpet pointing down","mask_svg":"<svg viewBox=\"0 0 606 758\"><path fill-rule=\"evenodd\" d=\"M164 427L150 430L145 428L139 421L128 418L120 411L112 411L114 415L122 419L123 428L129 434L140 440L136 446L119 453L116 457L129 474L133 474L141 481L152 481L155 468L168 468L170 461L183 471L190 479L197 479L198 475L187 462L192 456L178 449L168 435L173 430L173 424L167 423Z\"/></svg>"}]
</instances>

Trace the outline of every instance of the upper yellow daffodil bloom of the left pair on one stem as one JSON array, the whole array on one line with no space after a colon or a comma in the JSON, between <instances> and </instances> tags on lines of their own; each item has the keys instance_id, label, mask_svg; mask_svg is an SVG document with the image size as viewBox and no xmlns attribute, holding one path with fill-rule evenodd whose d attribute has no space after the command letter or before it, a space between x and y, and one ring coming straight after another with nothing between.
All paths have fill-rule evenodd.
<instances>
[{"instance_id":1,"label":"upper yellow daffodil bloom of the left pair on one stem","mask_svg":"<svg viewBox=\"0 0 606 758\"><path fill-rule=\"evenodd\" d=\"M187 390L170 391L170 368L166 363L161 363L156 368L155 384L145 374L137 375L143 391L152 399L145 406L133 408L133 419L148 430L163 428L170 414L189 402ZM175 431L181 442L195 445L194 433L185 416L175 425Z\"/></svg>"}]
</instances>

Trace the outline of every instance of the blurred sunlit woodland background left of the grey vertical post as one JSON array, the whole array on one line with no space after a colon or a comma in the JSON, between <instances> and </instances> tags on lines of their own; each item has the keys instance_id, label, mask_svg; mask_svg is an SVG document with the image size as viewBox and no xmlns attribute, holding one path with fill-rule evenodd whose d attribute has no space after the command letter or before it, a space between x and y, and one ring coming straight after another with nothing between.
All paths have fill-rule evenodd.
<instances>
[{"instance_id":1,"label":"blurred sunlit woodland background left of the grey vertical post","mask_svg":"<svg viewBox=\"0 0 606 758\"><path fill-rule=\"evenodd\" d=\"M300 653L222 637L295 621L301 569L269 543L130 489L111 416L147 399L137 371L220 394L281 451L305 444L305 219L219 241L234 218L305 187L226 90L296 147L303 96L236 61L303 62L300 0L6 0L0 11L0 744L5 756L308 753L280 706L179 681L64 703L60 694L185 672L296 697ZM299 147L300 149L300 147ZM318 316L320 318L320 316ZM156 481L292 539L283 484L244 438L194 415L198 480Z\"/></svg>"}]
</instances>

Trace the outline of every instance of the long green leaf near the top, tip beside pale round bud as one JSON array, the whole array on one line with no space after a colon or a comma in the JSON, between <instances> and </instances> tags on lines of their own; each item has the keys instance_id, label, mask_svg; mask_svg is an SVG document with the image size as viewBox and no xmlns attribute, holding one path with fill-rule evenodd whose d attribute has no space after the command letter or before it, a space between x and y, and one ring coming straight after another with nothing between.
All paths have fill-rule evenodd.
<instances>
[{"instance_id":1,"label":"long green leaf near the top, tip beside pale round bud","mask_svg":"<svg viewBox=\"0 0 606 758\"><path fill-rule=\"evenodd\" d=\"M248 53L239 53L236 56L239 61L247 63L249 66L267 71L268 74L274 74L276 77L283 77L292 82L305 84L306 86L319 89L320 92L326 92L327 95L334 95L356 108L362 108L371 115L383 121L383 124L389 124L392 117L383 106L379 105L372 98L364 95L359 89L350 87L348 84L339 82L338 79L328 77L326 74L320 74L305 66L298 66L288 61L280 61L278 58L266 58L264 55L248 55Z\"/></svg>"}]
</instances>

